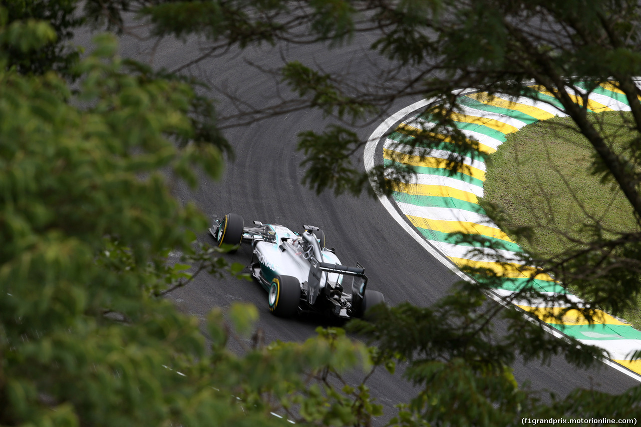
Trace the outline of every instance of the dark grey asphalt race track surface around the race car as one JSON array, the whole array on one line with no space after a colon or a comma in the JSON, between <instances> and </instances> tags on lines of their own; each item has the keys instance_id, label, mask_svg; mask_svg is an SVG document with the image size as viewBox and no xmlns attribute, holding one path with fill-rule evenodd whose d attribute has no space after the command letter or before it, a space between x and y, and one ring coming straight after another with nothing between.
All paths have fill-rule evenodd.
<instances>
[{"instance_id":1,"label":"dark grey asphalt race track surface around the race car","mask_svg":"<svg viewBox=\"0 0 641 427\"><path fill-rule=\"evenodd\" d=\"M79 34L76 40L84 44L87 35ZM303 63L320 63L328 71L359 75L369 72L372 66L360 47L369 43L357 37L353 45L329 52L322 47L295 46L285 54ZM131 37L123 37L122 55L145 60L152 45L153 42L141 44ZM163 42L154 55L154 65L172 69L192 60L197 54L195 44L192 45ZM199 78L225 85L254 105L271 105L276 97L274 78L248 65L246 58L264 67L278 67L280 54L268 47L247 49L242 54L201 62L192 72ZM399 100L383 119L413 101L417 99ZM219 111L232 113L233 106L221 99ZM304 130L320 131L327 122L321 112L306 110L231 128L225 135L233 144L237 160L228 162L222 180L210 181L203 176L200 187L194 191L176 183L176 194L183 201L196 201L207 215L239 213L246 224L254 219L277 222L295 231L301 230L302 224L317 225L324 230L327 245L336 248L344 264L353 265L358 261L365 267L370 289L383 292L388 304L435 302L445 295L456 276L406 234L378 201L366 196L316 196L301 185L303 172L299 163L303 155L295 150L297 134ZM369 137L378 124L376 121L358 129L359 135ZM362 167L362 160L354 162ZM203 230L200 239L211 237ZM229 260L248 264L250 256L251 249L245 246L235 255L229 255ZM253 303L260 312L260 327L266 342L304 340L313 335L320 324L314 319L274 317L267 308L267 293L253 281L217 280L204 275L185 289L176 290L172 297L181 310L201 318L213 306L228 306L233 301ZM570 367L562 357L553 358L549 366L516 365L515 374L521 383L528 381L531 389L549 389L560 396L577 387L616 394L638 385L612 367L601 365L601 369L581 371ZM385 419L394 413L393 405L409 401L414 394L406 381L384 371L372 376L368 385L372 395L385 406Z\"/></svg>"}]
</instances>

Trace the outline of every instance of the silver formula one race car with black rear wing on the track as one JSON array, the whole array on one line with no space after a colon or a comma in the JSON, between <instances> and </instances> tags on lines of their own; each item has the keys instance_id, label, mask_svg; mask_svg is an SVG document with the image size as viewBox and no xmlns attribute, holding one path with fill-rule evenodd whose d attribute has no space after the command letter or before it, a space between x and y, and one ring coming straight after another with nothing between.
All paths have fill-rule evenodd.
<instances>
[{"instance_id":1,"label":"silver formula one race car with black rear wing on the track","mask_svg":"<svg viewBox=\"0 0 641 427\"><path fill-rule=\"evenodd\" d=\"M303 225L295 233L278 224L254 221L228 213L209 229L218 246L251 242L251 275L269 292L269 310L281 317L317 313L350 319L385 302L383 294L367 288L362 265L340 264L334 249L325 247L325 233Z\"/></svg>"}]
</instances>

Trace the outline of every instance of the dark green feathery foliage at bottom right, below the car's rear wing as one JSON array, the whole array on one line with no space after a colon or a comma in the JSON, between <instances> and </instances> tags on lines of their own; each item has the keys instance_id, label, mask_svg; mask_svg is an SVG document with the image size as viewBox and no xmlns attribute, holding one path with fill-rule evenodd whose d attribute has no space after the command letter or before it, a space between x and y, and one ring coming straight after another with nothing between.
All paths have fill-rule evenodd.
<instances>
[{"instance_id":1,"label":"dark green feathery foliage at bottom right, below the car's rear wing","mask_svg":"<svg viewBox=\"0 0 641 427\"><path fill-rule=\"evenodd\" d=\"M429 308L379 306L373 323L351 322L352 330L376 343L376 363L407 364L404 376L419 390L410 403L399 405L390 425L512 426L523 417L596 418L615 402L624 405L622 414L633 413L637 403L630 396L639 387L622 396L594 390L577 390L565 399L550 394L549 402L519 387L510 368L517 355L528 362L563 354L572 364L592 366L601 351L556 339L515 310L488 305L482 290L467 285ZM492 324L501 318L510 327L499 334ZM578 401L579 395L591 405Z\"/></svg>"}]
</instances>

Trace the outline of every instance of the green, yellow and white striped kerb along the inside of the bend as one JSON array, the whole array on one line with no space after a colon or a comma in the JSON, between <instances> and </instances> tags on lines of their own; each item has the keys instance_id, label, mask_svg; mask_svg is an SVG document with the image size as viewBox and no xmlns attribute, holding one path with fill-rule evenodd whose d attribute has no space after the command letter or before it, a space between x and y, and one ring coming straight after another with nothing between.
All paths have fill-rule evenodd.
<instances>
[{"instance_id":1,"label":"green, yellow and white striped kerb along the inside of the bend","mask_svg":"<svg viewBox=\"0 0 641 427\"><path fill-rule=\"evenodd\" d=\"M458 98L462 108L452 119L458 130L479 143L477 152L458 153L461 155L458 163L448 162L455 147L451 138L426 131L433 122L426 115L407 117L383 144L385 165L401 163L416 172L416 176L406 182L394 181L392 198L397 208L424 239L449 260L463 271L473 269L470 274L475 280L484 280L484 270L499 273L500 279L493 278L491 285L507 299L526 286L539 292L566 293L553 278L520 261L522 251L519 246L490 221L478 204L478 197L483 196L485 158L496 151L506 135L526 124L565 115L556 108L560 103L553 94L535 86L529 88L535 96L514 99L478 92ZM629 110L626 96L615 83L603 83L596 88L586 84L579 88L591 90L588 110ZM573 99L582 104L580 96L573 95ZM419 136L438 141L438 144L428 150L420 149L421 144L418 149L412 149L412 141ZM453 165L457 166L455 172L451 170ZM461 235L474 239L462 242ZM488 246L498 249L490 251ZM497 256L502 262L497 262ZM522 305L516 301L515 304L552 328L585 344L601 347L608 351L614 362L641 373L641 361L627 360L631 353L641 349L641 332L629 324L604 312L595 312L590 323L576 310L565 310L561 306Z\"/></svg>"}]
</instances>

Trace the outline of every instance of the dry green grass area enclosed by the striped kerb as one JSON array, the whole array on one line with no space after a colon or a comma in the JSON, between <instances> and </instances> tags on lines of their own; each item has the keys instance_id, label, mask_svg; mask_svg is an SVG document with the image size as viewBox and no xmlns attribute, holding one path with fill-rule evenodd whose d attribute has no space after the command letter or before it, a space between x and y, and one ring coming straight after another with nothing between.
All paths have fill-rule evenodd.
<instances>
[{"instance_id":1,"label":"dry green grass area enclosed by the striped kerb","mask_svg":"<svg viewBox=\"0 0 641 427\"><path fill-rule=\"evenodd\" d=\"M625 114L593 113L591 119L613 137L615 147L629 137ZM531 240L510 237L545 258L576 246L571 239L587 240L585 224L636 230L633 210L620 188L590 173L593 153L567 117L529 124L510 134L490 156L481 204L501 208L513 226L531 226ZM573 291L580 296L580 290ZM639 310L624 317L641 329Z\"/></svg>"}]
</instances>

